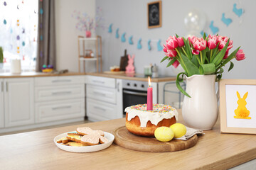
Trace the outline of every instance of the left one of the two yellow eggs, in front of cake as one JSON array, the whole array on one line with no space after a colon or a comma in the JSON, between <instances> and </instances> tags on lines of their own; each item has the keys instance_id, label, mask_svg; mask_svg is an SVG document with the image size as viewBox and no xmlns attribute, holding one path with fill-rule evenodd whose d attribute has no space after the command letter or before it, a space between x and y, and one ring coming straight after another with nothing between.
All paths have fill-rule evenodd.
<instances>
[{"instance_id":1,"label":"left one of the two yellow eggs, in front of cake","mask_svg":"<svg viewBox=\"0 0 256 170\"><path fill-rule=\"evenodd\" d=\"M159 140L161 142L169 142L174 138L174 132L171 130L171 128L164 126L156 128L154 135L156 137L156 140Z\"/></svg>"}]
</instances>

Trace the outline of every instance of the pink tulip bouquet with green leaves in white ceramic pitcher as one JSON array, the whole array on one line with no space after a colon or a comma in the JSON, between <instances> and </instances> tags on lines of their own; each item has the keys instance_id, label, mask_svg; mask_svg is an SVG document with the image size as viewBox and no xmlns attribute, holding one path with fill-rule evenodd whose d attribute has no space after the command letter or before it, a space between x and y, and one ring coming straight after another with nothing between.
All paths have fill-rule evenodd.
<instances>
[{"instance_id":1,"label":"pink tulip bouquet with green leaves in white ceramic pitcher","mask_svg":"<svg viewBox=\"0 0 256 170\"><path fill-rule=\"evenodd\" d=\"M218 102L215 94L215 81L219 81L225 64L230 63L228 72L233 69L231 60L245 59L240 47L228 55L233 47L230 38L208 35L203 38L170 36L164 45L167 67L181 64L184 72L177 75L176 86L185 95L182 115L185 123L202 130L210 130L218 118ZM180 82L186 77L186 91Z\"/></svg>"}]
</instances>

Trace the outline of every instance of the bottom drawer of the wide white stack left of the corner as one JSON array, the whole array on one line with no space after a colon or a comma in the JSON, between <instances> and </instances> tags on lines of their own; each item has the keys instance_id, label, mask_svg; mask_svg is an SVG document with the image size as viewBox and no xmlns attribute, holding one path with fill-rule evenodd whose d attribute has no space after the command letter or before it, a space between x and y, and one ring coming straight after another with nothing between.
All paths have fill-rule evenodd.
<instances>
[{"instance_id":1,"label":"bottom drawer of the wide white stack left of the corner","mask_svg":"<svg viewBox=\"0 0 256 170\"><path fill-rule=\"evenodd\" d=\"M36 123L81 118L85 116L85 99L36 103Z\"/></svg>"}]
</instances>

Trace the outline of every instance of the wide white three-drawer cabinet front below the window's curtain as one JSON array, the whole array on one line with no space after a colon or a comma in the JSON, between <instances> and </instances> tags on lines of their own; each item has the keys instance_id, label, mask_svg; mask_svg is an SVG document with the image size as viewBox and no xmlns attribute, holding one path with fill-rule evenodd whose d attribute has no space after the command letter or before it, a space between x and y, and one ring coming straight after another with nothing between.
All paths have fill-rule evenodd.
<instances>
[{"instance_id":1,"label":"wide white three-drawer cabinet front below the window's curtain","mask_svg":"<svg viewBox=\"0 0 256 170\"><path fill-rule=\"evenodd\" d=\"M36 77L36 123L85 118L85 77Z\"/></svg>"}]
</instances>

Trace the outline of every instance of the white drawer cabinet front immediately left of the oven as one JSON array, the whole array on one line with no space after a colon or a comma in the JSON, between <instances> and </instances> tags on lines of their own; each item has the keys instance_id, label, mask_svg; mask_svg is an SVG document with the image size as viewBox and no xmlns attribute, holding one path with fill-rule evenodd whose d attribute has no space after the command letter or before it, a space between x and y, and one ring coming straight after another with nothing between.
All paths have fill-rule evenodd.
<instances>
[{"instance_id":1,"label":"white drawer cabinet front immediately left of the oven","mask_svg":"<svg viewBox=\"0 0 256 170\"><path fill-rule=\"evenodd\" d=\"M117 83L116 83L117 82ZM89 120L122 118L122 84L120 80L87 76L86 113Z\"/></svg>"}]
</instances>

